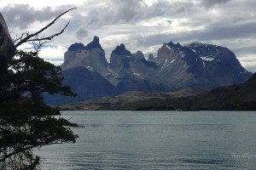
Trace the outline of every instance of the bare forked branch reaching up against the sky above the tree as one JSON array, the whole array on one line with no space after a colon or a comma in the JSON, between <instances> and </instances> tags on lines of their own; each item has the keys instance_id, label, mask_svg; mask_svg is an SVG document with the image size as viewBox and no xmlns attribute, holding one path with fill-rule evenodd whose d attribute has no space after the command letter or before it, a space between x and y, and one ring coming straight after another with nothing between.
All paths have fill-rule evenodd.
<instances>
[{"instance_id":1,"label":"bare forked branch reaching up against the sky above the tree","mask_svg":"<svg viewBox=\"0 0 256 170\"><path fill-rule=\"evenodd\" d=\"M33 34L28 34L26 33L26 37L22 38L24 36L25 33L23 33L21 35L20 38L17 38L15 41L19 41L18 43L15 44L15 47L19 47L22 43L24 42L34 42L34 41L42 41L42 40L51 40L53 37L56 37L56 36L59 36L61 35L61 33L63 33L63 31L65 31L65 29L67 28L68 24L70 23L70 21L68 21L67 25L59 32L59 33L56 33L55 35L52 35L52 36L49 36L49 37L44 37L44 38L38 38L37 35L40 34L41 32L43 32L44 30L48 29L49 26L52 26L53 24L55 24L55 21L58 20L63 14L66 14L67 12L73 10L75 8L70 8L68 9L67 11L65 11L64 13L60 14L59 16L57 16L55 18L55 20L51 21L47 26L44 26L44 28L42 28L41 30L33 33ZM34 38L36 37L36 38ZM32 38L32 39L31 39Z\"/></svg>"}]
</instances>

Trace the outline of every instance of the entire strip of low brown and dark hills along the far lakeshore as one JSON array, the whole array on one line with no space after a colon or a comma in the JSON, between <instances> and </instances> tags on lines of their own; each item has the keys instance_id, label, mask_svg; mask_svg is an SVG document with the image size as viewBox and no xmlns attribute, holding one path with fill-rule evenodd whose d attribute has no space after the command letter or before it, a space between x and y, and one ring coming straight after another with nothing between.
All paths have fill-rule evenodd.
<instances>
[{"instance_id":1,"label":"entire strip of low brown and dark hills along the far lakeshore","mask_svg":"<svg viewBox=\"0 0 256 170\"><path fill-rule=\"evenodd\" d=\"M247 82L206 90L174 93L132 92L112 98L62 105L62 110L256 111L256 73Z\"/></svg>"}]
</instances>

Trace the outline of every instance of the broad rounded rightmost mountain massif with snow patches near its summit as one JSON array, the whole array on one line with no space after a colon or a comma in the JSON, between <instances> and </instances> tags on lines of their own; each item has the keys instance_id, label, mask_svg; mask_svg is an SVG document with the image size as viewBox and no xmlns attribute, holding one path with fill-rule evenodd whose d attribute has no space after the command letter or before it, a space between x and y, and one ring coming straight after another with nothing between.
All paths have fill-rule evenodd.
<instances>
[{"instance_id":1,"label":"broad rounded rightmost mountain massif with snow patches near its summit","mask_svg":"<svg viewBox=\"0 0 256 170\"><path fill-rule=\"evenodd\" d=\"M247 72L228 48L192 42L168 42L151 59L159 65L161 77L177 88L216 88L245 82L252 73Z\"/></svg>"}]
</instances>

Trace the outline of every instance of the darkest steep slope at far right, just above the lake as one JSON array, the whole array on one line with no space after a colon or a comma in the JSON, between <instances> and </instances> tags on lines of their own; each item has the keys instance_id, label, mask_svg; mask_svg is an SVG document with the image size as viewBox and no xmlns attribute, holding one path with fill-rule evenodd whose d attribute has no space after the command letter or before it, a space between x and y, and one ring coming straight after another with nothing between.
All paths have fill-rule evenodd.
<instances>
[{"instance_id":1,"label":"darkest steep slope at far right, just above the lake","mask_svg":"<svg viewBox=\"0 0 256 170\"><path fill-rule=\"evenodd\" d=\"M256 73L245 83L213 89L194 101L190 109L256 111Z\"/></svg>"}]
</instances>

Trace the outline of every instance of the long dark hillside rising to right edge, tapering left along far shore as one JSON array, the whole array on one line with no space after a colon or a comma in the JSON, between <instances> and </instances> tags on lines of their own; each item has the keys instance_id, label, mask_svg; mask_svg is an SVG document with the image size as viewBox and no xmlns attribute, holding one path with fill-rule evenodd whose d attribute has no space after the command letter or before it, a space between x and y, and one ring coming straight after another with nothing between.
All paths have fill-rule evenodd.
<instances>
[{"instance_id":1,"label":"long dark hillside rising to right edge, tapering left along far shore","mask_svg":"<svg viewBox=\"0 0 256 170\"><path fill-rule=\"evenodd\" d=\"M256 111L256 73L247 82L214 88L207 94L175 99L148 99L130 105L134 105L134 110L148 105L162 105L179 111Z\"/></svg>"}]
</instances>

